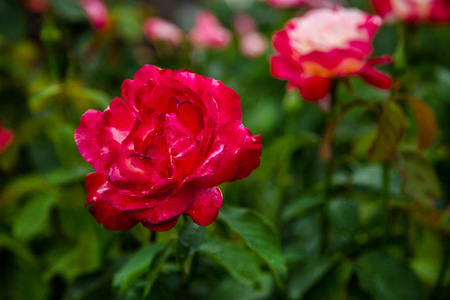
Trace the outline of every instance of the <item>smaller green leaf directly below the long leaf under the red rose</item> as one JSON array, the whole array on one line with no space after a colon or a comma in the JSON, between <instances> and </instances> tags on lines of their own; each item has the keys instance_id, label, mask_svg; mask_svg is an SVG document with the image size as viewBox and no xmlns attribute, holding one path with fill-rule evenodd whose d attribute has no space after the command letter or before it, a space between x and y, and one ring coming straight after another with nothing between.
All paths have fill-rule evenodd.
<instances>
[{"instance_id":1,"label":"smaller green leaf directly below the long leaf under the red rose","mask_svg":"<svg viewBox=\"0 0 450 300\"><path fill-rule=\"evenodd\" d=\"M247 286L261 284L261 272L258 265L241 248L222 240L207 240L200 246L205 254L224 267L238 282Z\"/></svg>"}]
</instances>

